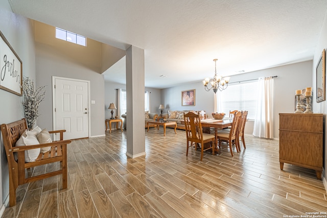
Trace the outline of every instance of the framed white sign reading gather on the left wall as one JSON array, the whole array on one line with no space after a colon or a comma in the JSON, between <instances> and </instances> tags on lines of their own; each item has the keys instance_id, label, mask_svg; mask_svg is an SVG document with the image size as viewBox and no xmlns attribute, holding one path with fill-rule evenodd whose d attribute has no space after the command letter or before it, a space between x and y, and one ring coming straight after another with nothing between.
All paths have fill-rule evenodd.
<instances>
[{"instance_id":1,"label":"framed white sign reading gather on the left wall","mask_svg":"<svg viewBox=\"0 0 327 218\"><path fill-rule=\"evenodd\" d=\"M0 31L0 88L22 95L22 62Z\"/></svg>"}]
</instances>

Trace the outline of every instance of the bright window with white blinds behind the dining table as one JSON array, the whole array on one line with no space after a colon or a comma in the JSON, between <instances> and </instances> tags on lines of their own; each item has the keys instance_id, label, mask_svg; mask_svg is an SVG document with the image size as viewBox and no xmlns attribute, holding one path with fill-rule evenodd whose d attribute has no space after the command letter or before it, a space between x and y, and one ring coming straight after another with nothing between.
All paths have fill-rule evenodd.
<instances>
[{"instance_id":1,"label":"bright window with white blinds behind the dining table","mask_svg":"<svg viewBox=\"0 0 327 218\"><path fill-rule=\"evenodd\" d=\"M256 100L258 99L258 81L230 84L227 89L221 91L219 95L217 94L217 98L220 98L219 112L224 112L226 116L229 115L229 111L247 110L247 118L254 119Z\"/></svg>"}]
</instances>

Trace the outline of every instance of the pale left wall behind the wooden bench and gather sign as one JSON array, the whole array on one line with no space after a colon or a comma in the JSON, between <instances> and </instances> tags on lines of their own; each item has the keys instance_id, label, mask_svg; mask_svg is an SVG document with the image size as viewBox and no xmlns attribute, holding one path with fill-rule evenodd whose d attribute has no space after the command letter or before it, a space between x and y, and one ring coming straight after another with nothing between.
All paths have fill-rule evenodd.
<instances>
[{"instance_id":1,"label":"pale left wall behind the wooden bench and gather sign","mask_svg":"<svg viewBox=\"0 0 327 218\"><path fill-rule=\"evenodd\" d=\"M12 13L7 1L0 1L0 31L21 59L23 76L28 76L35 81L35 48L32 22L25 17ZM0 124L11 123L24 117L20 96L0 89L0 100L2 102ZM0 151L0 185L2 187L0 189L0 195L2 196L0 205L4 206L9 200L9 180L8 162L2 136ZM2 209L0 209L0 214Z\"/></svg>"}]
</instances>

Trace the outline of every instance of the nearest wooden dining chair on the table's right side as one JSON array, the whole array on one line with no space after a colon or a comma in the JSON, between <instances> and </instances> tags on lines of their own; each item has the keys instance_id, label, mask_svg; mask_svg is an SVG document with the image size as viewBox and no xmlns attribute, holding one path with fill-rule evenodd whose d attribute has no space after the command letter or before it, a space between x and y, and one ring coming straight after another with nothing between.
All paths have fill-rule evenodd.
<instances>
[{"instance_id":1,"label":"nearest wooden dining chair on the table's right side","mask_svg":"<svg viewBox=\"0 0 327 218\"><path fill-rule=\"evenodd\" d=\"M235 143L236 150L237 152L239 152L237 136L238 136L241 118L242 118L242 112L238 111L233 117L233 122L231 124L230 131L220 130L217 132L218 146L221 147L221 141L226 141L229 144L229 150L231 156L233 156L233 151L232 151L233 143Z\"/></svg>"}]
</instances>

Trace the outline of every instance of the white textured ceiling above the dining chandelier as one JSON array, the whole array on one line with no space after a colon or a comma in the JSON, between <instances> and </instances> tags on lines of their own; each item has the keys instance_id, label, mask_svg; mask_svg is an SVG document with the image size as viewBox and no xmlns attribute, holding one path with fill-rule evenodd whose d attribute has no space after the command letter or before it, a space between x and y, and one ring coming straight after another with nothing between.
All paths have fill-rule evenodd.
<instances>
[{"instance_id":1,"label":"white textured ceiling above the dining chandelier","mask_svg":"<svg viewBox=\"0 0 327 218\"><path fill-rule=\"evenodd\" d=\"M145 85L153 88L213 78L215 58L221 76L312 60L327 9L325 0L8 2L22 16L123 50L144 49ZM122 59L105 74L124 84L124 72Z\"/></svg>"}]
</instances>

